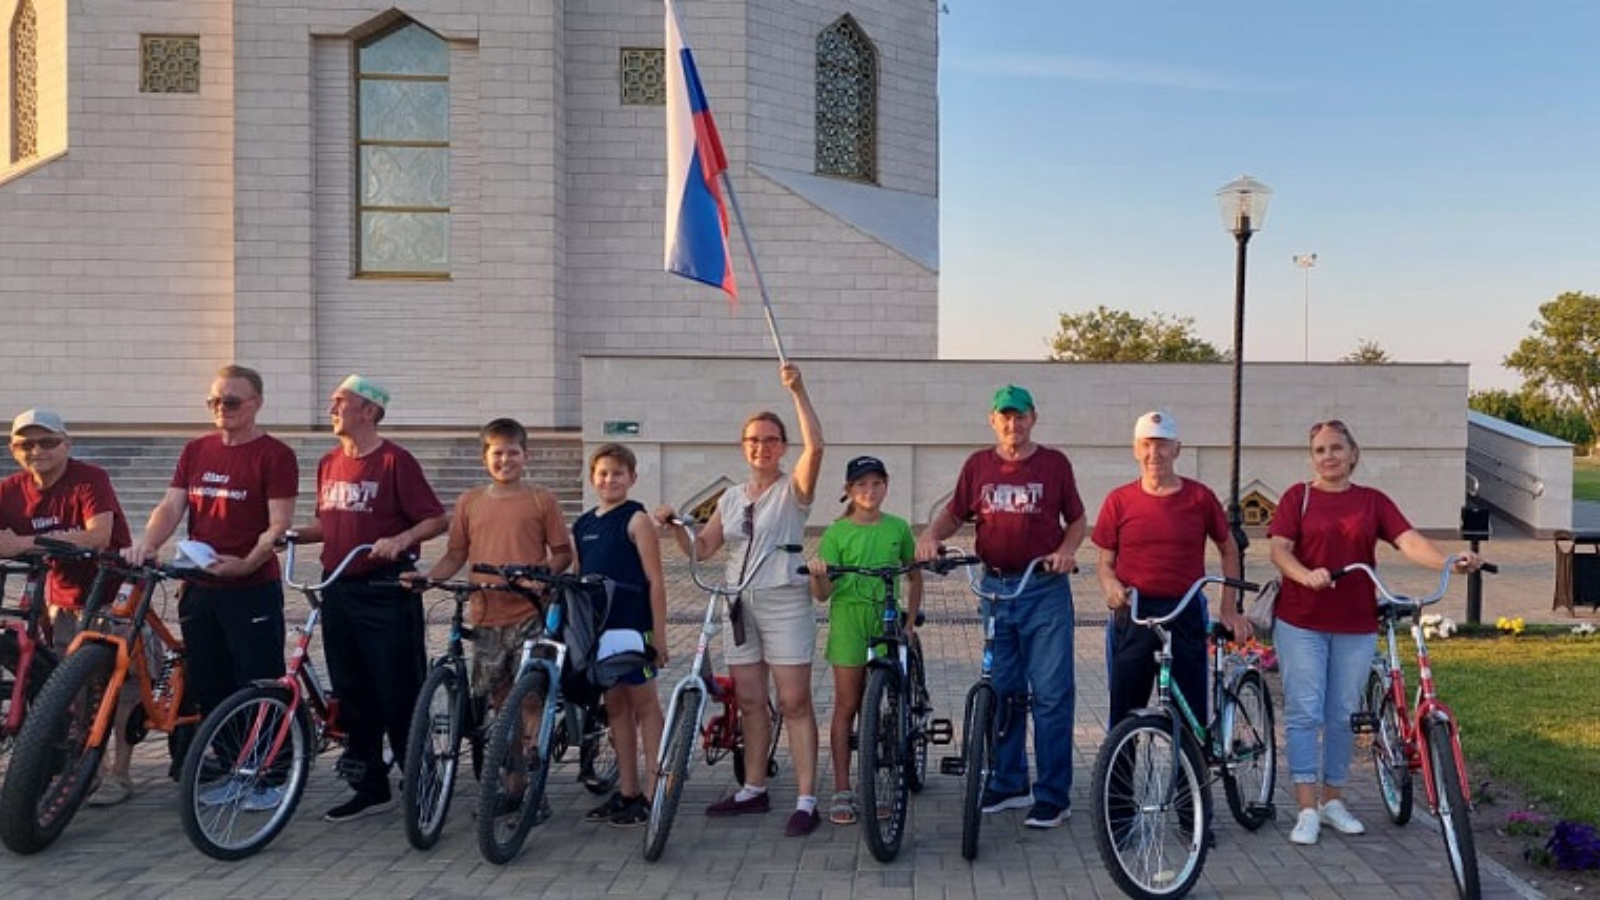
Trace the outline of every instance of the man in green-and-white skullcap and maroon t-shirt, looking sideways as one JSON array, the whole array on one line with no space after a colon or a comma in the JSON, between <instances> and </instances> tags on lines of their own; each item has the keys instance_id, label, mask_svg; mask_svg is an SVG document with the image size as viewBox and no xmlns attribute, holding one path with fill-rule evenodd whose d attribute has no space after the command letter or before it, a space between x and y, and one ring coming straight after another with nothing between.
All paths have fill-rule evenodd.
<instances>
[{"instance_id":1,"label":"man in green-and-white skullcap and maroon t-shirt, looking sideways","mask_svg":"<svg viewBox=\"0 0 1600 900\"><path fill-rule=\"evenodd\" d=\"M328 418L339 445L317 464L317 520L299 528L302 541L323 541L323 577L352 549L373 544L323 591L322 644L349 733L339 769L355 790L323 815L328 822L394 802L384 735L394 757L405 759L411 708L427 673L422 602L395 581L414 569L422 541L450 527L422 466L378 434L387 407L389 392L360 375L333 392Z\"/></svg>"}]
</instances>

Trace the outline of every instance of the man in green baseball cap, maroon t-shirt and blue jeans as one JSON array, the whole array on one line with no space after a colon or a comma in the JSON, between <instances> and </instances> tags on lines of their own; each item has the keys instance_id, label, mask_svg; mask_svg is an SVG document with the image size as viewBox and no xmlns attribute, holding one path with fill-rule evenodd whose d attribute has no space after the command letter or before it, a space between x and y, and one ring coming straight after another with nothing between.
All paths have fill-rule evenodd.
<instances>
[{"instance_id":1,"label":"man in green baseball cap, maroon t-shirt and blue jeans","mask_svg":"<svg viewBox=\"0 0 1600 900\"><path fill-rule=\"evenodd\" d=\"M933 559L963 522L978 530L984 591L1010 594L1027 564L1043 559L1027 589L995 604L994 685L1002 714L1032 690L1038 780L1029 790L1027 729L1011 727L995 746L984 812L1027 809L1029 828L1059 828L1072 815L1072 585L1067 573L1083 543L1083 500L1066 453L1034 442L1034 396L1014 384L995 391L989 426L995 445L966 458L950 503L917 540Z\"/></svg>"}]
</instances>

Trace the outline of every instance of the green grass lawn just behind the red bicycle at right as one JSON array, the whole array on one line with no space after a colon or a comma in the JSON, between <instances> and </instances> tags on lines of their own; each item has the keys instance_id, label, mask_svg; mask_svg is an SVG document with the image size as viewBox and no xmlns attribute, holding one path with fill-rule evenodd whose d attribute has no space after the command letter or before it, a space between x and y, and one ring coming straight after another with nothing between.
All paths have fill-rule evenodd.
<instances>
[{"instance_id":1,"label":"green grass lawn just behind the red bicycle at right","mask_svg":"<svg viewBox=\"0 0 1600 900\"><path fill-rule=\"evenodd\" d=\"M1600 825L1600 636L1434 641L1429 652L1474 785L1510 781L1558 818Z\"/></svg>"}]
</instances>

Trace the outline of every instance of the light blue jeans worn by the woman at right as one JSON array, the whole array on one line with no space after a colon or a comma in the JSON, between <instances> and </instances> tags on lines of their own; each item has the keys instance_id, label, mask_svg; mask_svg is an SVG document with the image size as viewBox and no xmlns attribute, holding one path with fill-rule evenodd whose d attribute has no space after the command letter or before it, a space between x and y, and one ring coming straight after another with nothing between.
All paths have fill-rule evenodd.
<instances>
[{"instance_id":1,"label":"light blue jeans worn by the woman at right","mask_svg":"<svg viewBox=\"0 0 1600 900\"><path fill-rule=\"evenodd\" d=\"M1283 673L1290 780L1315 785L1320 775L1323 785L1341 788L1355 748L1350 713L1360 706L1376 637L1310 631L1280 618L1272 644Z\"/></svg>"}]
</instances>

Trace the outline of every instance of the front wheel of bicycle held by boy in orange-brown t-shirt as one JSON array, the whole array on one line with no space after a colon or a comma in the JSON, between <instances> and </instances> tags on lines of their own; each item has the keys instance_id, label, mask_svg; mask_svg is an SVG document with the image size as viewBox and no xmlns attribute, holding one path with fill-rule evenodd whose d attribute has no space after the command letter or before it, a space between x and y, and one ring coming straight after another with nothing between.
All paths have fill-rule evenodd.
<instances>
[{"instance_id":1,"label":"front wheel of bicycle held by boy in orange-brown t-shirt","mask_svg":"<svg viewBox=\"0 0 1600 900\"><path fill-rule=\"evenodd\" d=\"M438 842L461 772L467 685L453 663L434 666L411 711L405 748L405 836L418 850Z\"/></svg>"}]
</instances>

